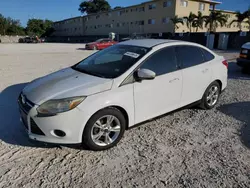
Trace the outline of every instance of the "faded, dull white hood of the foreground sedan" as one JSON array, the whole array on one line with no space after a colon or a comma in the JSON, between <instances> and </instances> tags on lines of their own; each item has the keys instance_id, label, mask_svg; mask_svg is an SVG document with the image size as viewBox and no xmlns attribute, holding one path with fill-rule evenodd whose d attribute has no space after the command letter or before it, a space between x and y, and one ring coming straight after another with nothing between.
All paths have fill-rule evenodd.
<instances>
[{"instance_id":1,"label":"faded, dull white hood of the foreground sedan","mask_svg":"<svg viewBox=\"0 0 250 188\"><path fill-rule=\"evenodd\" d=\"M89 96L110 90L113 80L91 76L72 68L62 69L32 81L23 94L33 103L41 104L49 99Z\"/></svg>"}]
</instances>

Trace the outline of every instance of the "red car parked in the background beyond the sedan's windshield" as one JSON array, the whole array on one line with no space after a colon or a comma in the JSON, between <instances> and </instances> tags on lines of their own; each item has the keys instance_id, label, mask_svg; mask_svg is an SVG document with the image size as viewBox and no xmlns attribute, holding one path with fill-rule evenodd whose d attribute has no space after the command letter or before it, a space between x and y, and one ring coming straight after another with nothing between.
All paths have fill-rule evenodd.
<instances>
[{"instance_id":1,"label":"red car parked in the background beyond the sedan's windshield","mask_svg":"<svg viewBox=\"0 0 250 188\"><path fill-rule=\"evenodd\" d=\"M85 48L87 50L103 50L107 47L113 46L116 43L116 41L111 39L99 39L95 42L87 43Z\"/></svg>"}]
</instances>

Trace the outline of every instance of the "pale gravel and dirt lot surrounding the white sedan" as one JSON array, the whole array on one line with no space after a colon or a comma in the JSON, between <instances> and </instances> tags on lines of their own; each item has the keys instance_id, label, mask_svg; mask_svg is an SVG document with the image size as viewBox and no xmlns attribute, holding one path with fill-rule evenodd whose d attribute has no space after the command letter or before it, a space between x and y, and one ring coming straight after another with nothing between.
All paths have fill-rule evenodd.
<instances>
[{"instance_id":1,"label":"pale gravel and dirt lot surrounding the white sedan","mask_svg":"<svg viewBox=\"0 0 250 188\"><path fill-rule=\"evenodd\" d=\"M19 92L91 53L83 47L0 44L0 187L250 187L250 76L233 61L213 110L162 116L103 152L29 142L19 123Z\"/></svg>"}]
</instances>

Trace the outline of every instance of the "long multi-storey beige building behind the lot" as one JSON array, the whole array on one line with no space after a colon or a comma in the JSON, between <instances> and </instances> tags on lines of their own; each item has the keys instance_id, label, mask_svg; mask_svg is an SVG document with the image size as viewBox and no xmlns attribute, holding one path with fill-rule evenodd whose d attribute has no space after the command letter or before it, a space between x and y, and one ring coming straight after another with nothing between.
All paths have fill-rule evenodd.
<instances>
[{"instance_id":1,"label":"long multi-storey beige building behind the lot","mask_svg":"<svg viewBox=\"0 0 250 188\"><path fill-rule=\"evenodd\" d=\"M180 18L188 16L190 12L209 15L211 10L216 10L216 5L221 4L211 0L152 0L138 5L124 7L98 14L90 14L70 18L54 23L55 36L88 36L108 35L114 32L122 35L152 34L173 32L174 25L171 18L177 15ZM218 27L217 32L235 32L239 30L237 23L229 26L235 18L235 12L224 11L227 14L228 24ZM189 32L186 26L179 24L176 33ZM248 25L243 24L242 30L247 31ZM198 32L206 32L207 28L199 29ZM195 32L195 29L193 29Z\"/></svg>"}]
</instances>

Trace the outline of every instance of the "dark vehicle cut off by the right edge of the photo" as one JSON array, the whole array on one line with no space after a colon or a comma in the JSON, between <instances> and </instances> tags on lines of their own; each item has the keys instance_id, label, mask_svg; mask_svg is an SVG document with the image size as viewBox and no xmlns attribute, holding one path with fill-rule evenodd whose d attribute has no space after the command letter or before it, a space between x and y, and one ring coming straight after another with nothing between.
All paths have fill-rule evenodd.
<instances>
[{"instance_id":1,"label":"dark vehicle cut off by the right edge of the photo","mask_svg":"<svg viewBox=\"0 0 250 188\"><path fill-rule=\"evenodd\" d=\"M250 72L250 42L241 47L240 57L237 59L237 64L242 67L242 71Z\"/></svg>"}]
</instances>

